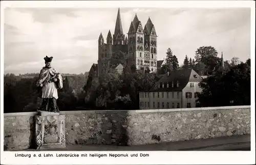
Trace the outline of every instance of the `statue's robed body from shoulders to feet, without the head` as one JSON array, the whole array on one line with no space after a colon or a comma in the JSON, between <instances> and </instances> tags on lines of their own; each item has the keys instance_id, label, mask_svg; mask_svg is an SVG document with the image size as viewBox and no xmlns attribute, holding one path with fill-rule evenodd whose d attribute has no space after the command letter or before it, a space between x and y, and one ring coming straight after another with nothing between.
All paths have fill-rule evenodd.
<instances>
[{"instance_id":1,"label":"statue's robed body from shoulders to feet, without the head","mask_svg":"<svg viewBox=\"0 0 256 165\"><path fill-rule=\"evenodd\" d=\"M54 76L57 79L56 82L53 81ZM59 112L56 101L58 99L57 89L63 88L62 76L54 68L43 67L37 83L42 86L41 98L43 99L39 110Z\"/></svg>"}]
</instances>

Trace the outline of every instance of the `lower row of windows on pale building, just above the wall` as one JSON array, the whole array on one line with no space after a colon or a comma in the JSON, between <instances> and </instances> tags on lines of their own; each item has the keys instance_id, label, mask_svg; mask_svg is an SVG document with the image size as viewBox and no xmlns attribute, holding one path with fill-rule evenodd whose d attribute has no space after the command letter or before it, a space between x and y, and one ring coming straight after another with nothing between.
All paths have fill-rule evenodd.
<instances>
[{"instance_id":1,"label":"lower row of windows on pale building, just above the wall","mask_svg":"<svg viewBox=\"0 0 256 165\"><path fill-rule=\"evenodd\" d=\"M166 106L164 106L164 104ZM171 104L169 102L166 102L166 103L162 102L161 107L160 107L160 102L157 102L157 106L156 106L156 102L153 102L153 108L180 108L179 102L176 103L176 105L174 102L172 102L172 106L170 106L170 105ZM140 102L140 107L150 108L150 102ZM190 108L190 107L191 107L191 103L188 102L187 108Z\"/></svg>"}]
</instances>

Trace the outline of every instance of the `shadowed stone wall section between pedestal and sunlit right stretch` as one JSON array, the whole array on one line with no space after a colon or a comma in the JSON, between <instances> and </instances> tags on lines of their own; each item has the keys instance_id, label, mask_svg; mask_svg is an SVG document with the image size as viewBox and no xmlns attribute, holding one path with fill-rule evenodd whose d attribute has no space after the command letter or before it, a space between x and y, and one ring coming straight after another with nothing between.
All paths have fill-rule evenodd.
<instances>
[{"instance_id":1,"label":"shadowed stone wall section between pedestal and sunlit right stretch","mask_svg":"<svg viewBox=\"0 0 256 165\"><path fill-rule=\"evenodd\" d=\"M127 146L127 111L66 115L66 142ZM75 122L74 122L75 121Z\"/></svg>"}]
</instances>

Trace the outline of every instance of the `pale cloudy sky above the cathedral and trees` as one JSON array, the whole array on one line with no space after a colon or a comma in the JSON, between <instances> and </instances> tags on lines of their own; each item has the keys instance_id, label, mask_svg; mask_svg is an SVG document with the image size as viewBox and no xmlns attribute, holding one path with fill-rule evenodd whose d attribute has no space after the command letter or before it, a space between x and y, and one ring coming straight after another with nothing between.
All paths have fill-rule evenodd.
<instances>
[{"instance_id":1,"label":"pale cloudy sky above the cathedral and trees","mask_svg":"<svg viewBox=\"0 0 256 165\"><path fill-rule=\"evenodd\" d=\"M4 72L37 73L53 57L60 73L84 73L98 60L98 38L112 35L118 8L6 8ZM250 8L120 8L123 32L135 14L148 17L158 36L158 60L170 48L179 64L200 46L213 46L224 60L250 58Z\"/></svg>"}]
</instances>

